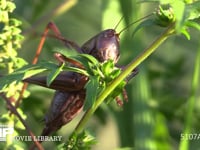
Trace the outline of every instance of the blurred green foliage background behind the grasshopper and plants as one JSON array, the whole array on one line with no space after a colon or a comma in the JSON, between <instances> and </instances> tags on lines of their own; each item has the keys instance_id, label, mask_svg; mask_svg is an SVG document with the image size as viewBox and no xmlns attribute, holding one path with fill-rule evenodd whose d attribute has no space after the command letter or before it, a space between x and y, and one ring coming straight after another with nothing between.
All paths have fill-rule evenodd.
<instances>
[{"instance_id":1,"label":"blurred green foliage background behind the grasshopper and plants","mask_svg":"<svg viewBox=\"0 0 200 150\"><path fill-rule=\"evenodd\" d=\"M82 45L95 34L114 28L120 18L119 32L127 24L152 13L158 3L136 3L134 0L15 0L15 17L23 22L25 39L19 55L31 62L45 26L53 21L62 35ZM135 25L136 26L136 25ZM119 65L127 65L149 46L164 28L154 26L132 36L134 27L120 36ZM188 114L194 63L199 46L199 33L191 30L191 39L172 36L139 66L139 74L127 85L129 101L123 108L113 102L103 104L88 123L96 137L94 150L134 147L137 150L176 150ZM53 60L53 50L64 45L48 38L40 60ZM30 97L21 104L28 125L36 135L43 128L42 118L50 105L53 90L29 85ZM200 134L200 92L195 98L190 122L191 133ZM57 133L66 141L78 123L79 115ZM20 131L27 135L25 131ZM189 149L200 147L199 140L189 140ZM30 143L29 143L30 144ZM44 142L46 148L55 146Z\"/></svg>"}]
</instances>

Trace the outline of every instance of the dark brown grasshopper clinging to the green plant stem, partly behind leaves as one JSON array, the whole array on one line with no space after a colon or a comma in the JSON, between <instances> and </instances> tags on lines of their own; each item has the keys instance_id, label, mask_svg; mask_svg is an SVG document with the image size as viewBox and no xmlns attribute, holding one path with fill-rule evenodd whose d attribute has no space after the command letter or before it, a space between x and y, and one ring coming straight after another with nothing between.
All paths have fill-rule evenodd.
<instances>
[{"instance_id":1,"label":"dark brown grasshopper clinging to the green plant stem, partly behind leaves","mask_svg":"<svg viewBox=\"0 0 200 150\"><path fill-rule=\"evenodd\" d=\"M99 62L107 60L113 60L116 64L118 62L120 51L119 51L119 35L121 32L116 33L115 29L107 29L101 31L90 40L88 40L83 46L79 47L76 43L61 36L60 31L55 24L50 22L43 34L40 41L36 56L33 63L37 63L38 56L41 52L45 38L47 37L48 31L52 30L55 38L61 40L67 47L75 49L79 53L90 54L94 56ZM123 29L124 30L124 29ZM123 31L121 30L121 31ZM52 35L51 35L52 36ZM66 58L63 55L56 53L56 58L60 63L67 61L73 66L84 68L79 62L76 62L70 58ZM127 82L133 76L137 74L137 69L133 70L132 74L127 77ZM40 86L47 87L46 76L42 77L30 77L24 80L24 82L37 84ZM75 72L62 72L47 88L55 89L55 95L51 103L49 112L45 116L45 128L42 135L49 135L61 128L63 125L70 122L83 108L86 91L85 84L88 82L88 77ZM123 91L125 99L127 95L125 90ZM122 105L122 102L116 98L117 103Z\"/></svg>"}]
</instances>

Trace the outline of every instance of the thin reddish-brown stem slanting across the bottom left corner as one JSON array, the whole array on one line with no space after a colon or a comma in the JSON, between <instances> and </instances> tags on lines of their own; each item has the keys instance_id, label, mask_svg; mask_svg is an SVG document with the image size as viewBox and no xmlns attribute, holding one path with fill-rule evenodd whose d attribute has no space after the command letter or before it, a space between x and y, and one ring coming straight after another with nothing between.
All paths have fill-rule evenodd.
<instances>
[{"instance_id":1,"label":"thin reddish-brown stem slanting across the bottom left corner","mask_svg":"<svg viewBox=\"0 0 200 150\"><path fill-rule=\"evenodd\" d=\"M15 101L15 100L10 100L9 98L7 98L5 96L5 94L3 93L0 93L0 96L6 101L6 103L8 104L9 106L9 109L12 113L14 113L18 118L19 120L21 121L21 123L24 125L24 127L26 128L26 131L29 133L29 135L31 136L32 139L34 139L34 134L33 132L29 129L28 125L26 124L26 122L24 121L24 119L21 117L21 115L18 113L18 111L16 110L16 108L12 105L12 103L10 101ZM12 99L12 98L11 98ZM35 145L37 146L37 148L39 150L43 150L43 147L42 145L36 141L36 140L33 140L33 142L35 143Z\"/></svg>"}]
</instances>

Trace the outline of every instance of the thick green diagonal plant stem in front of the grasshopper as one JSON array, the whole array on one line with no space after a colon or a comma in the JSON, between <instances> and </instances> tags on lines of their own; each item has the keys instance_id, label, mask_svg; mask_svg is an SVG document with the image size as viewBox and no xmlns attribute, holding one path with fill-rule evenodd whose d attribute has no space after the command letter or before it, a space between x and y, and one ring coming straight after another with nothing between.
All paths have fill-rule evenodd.
<instances>
[{"instance_id":1,"label":"thick green diagonal plant stem in front of the grasshopper","mask_svg":"<svg viewBox=\"0 0 200 150\"><path fill-rule=\"evenodd\" d=\"M102 92L98 97L95 104L86 111L83 118L80 120L79 124L75 128L74 132L80 133L89 118L99 107L99 105L106 99L106 97L136 68L140 63L142 63L149 55L151 55L158 46L160 46L169 35L174 33L174 24L170 25L148 48L146 48L138 57L136 57L123 72Z\"/></svg>"}]
</instances>

